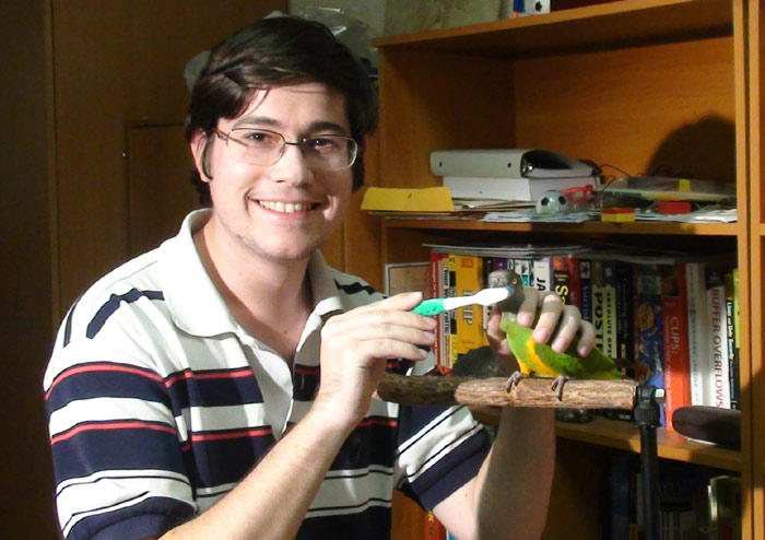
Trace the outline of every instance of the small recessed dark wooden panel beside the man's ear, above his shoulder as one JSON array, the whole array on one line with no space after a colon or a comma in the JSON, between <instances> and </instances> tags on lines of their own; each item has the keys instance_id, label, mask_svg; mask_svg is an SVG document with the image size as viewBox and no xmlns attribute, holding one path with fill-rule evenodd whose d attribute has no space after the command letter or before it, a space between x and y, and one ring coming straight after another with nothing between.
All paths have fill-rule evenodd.
<instances>
[{"instance_id":1,"label":"small recessed dark wooden panel beside the man's ear, above his shoulder","mask_svg":"<svg viewBox=\"0 0 765 540\"><path fill-rule=\"evenodd\" d=\"M131 256L174 236L184 216L199 208L192 167L183 125L128 129Z\"/></svg>"}]
</instances>

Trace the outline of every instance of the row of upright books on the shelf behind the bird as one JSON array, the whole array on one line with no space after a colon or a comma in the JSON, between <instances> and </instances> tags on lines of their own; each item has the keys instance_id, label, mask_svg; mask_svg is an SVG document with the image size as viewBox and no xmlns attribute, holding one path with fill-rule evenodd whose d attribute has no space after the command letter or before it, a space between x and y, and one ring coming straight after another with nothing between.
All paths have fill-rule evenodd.
<instances>
[{"instance_id":1,"label":"row of upright books on the shelf behind the bird","mask_svg":"<svg viewBox=\"0 0 765 540\"><path fill-rule=\"evenodd\" d=\"M662 424L688 404L740 408L738 269L733 256L635 255L580 246L431 246L428 294L469 295L491 271L510 268L523 284L555 291L596 329L596 347L629 366L638 383L666 389ZM436 357L449 371L487 344L487 309L439 316Z\"/></svg>"}]
</instances>

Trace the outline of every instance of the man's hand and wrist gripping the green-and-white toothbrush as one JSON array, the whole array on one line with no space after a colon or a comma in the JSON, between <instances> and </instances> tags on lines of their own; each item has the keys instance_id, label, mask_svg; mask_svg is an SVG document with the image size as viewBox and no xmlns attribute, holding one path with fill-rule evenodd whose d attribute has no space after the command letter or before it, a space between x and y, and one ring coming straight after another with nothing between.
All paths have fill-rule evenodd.
<instances>
[{"instance_id":1,"label":"man's hand and wrist gripping the green-and-white toothbrush","mask_svg":"<svg viewBox=\"0 0 765 540\"><path fill-rule=\"evenodd\" d=\"M355 426L369 408L388 359L424 360L436 319L411 313L421 293L403 293L331 317L321 330L321 384L314 408Z\"/></svg>"}]
</instances>

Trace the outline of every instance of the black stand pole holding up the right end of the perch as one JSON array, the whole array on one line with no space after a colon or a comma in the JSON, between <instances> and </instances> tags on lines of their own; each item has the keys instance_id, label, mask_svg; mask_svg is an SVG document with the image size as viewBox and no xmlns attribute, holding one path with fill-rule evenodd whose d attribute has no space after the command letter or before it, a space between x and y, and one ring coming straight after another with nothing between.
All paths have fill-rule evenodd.
<instances>
[{"instance_id":1,"label":"black stand pole holding up the right end of the perch","mask_svg":"<svg viewBox=\"0 0 765 540\"><path fill-rule=\"evenodd\" d=\"M635 425L640 430L640 468L643 471L643 518L645 540L660 540L659 529L659 453L656 429L661 425L660 399L663 390L655 386L637 388Z\"/></svg>"}]
</instances>

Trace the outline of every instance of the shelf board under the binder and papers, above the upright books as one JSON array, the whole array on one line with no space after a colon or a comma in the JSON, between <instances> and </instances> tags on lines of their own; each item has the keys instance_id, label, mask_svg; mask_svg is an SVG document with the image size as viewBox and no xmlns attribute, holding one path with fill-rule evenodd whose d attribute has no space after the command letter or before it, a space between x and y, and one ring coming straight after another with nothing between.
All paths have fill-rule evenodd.
<instances>
[{"instance_id":1,"label":"shelf board under the binder and papers, above the upright books","mask_svg":"<svg viewBox=\"0 0 765 540\"><path fill-rule=\"evenodd\" d=\"M459 219L408 219L384 218L384 225L391 228L428 228L449 231L511 231L566 234L662 234L735 236L745 233L740 223L667 223L633 222L608 223L589 221L585 223L496 223Z\"/></svg>"}]
</instances>

